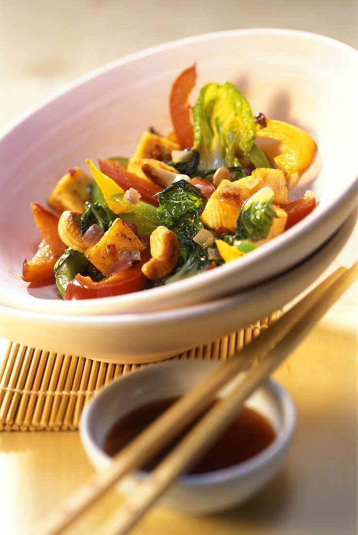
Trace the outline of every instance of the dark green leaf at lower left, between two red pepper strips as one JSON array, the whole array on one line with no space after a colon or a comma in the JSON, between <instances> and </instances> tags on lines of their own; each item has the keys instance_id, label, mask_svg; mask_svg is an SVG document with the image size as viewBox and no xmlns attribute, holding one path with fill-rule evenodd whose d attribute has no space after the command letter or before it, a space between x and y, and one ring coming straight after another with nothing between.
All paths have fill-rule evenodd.
<instances>
[{"instance_id":1,"label":"dark green leaf at lower left, between two red pepper strips","mask_svg":"<svg viewBox=\"0 0 358 535\"><path fill-rule=\"evenodd\" d=\"M63 298L68 282L79 273L96 281L104 278L104 275L82 253L73 249L66 249L53 269L58 290Z\"/></svg>"}]
</instances>

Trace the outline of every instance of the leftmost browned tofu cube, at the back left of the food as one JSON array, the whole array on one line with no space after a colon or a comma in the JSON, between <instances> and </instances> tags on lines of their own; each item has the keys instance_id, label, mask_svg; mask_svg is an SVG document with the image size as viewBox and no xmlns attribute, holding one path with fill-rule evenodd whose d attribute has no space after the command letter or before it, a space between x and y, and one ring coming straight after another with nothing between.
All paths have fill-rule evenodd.
<instances>
[{"instance_id":1,"label":"leftmost browned tofu cube, at the back left of the food","mask_svg":"<svg viewBox=\"0 0 358 535\"><path fill-rule=\"evenodd\" d=\"M70 210L83 213L85 201L91 198L92 184L93 179L82 169L75 167L58 181L47 202L57 212Z\"/></svg>"}]
</instances>

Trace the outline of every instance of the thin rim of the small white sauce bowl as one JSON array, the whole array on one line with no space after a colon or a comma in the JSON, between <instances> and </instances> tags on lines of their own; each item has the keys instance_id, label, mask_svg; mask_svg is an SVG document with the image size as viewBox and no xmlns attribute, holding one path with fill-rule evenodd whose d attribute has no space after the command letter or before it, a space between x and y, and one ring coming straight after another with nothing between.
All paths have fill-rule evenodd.
<instances>
[{"instance_id":1,"label":"thin rim of the small white sauce bowl","mask_svg":"<svg viewBox=\"0 0 358 535\"><path fill-rule=\"evenodd\" d=\"M191 364L197 366L198 362L205 362L205 367L208 369L207 373L209 373L210 369L214 369L215 366L220 365L220 362L218 361L172 361L172 362L161 362L158 364L160 368L162 366L169 366L172 368L172 373L174 372L173 368L175 367L185 367L185 365L188 365L188 362ZM201 364L200 364L201 365ZM111 461L111 456L107 455L102 448L100 448L95 440L92 438L91 431L90 431L90 421L91 421L91 415L92 411L94 410L94 407L96 407L96 404L98 403L99 396L102 395L111 395L111 391L113 391L113 395L115 395L116 389L119 388L119 384L123 380L130 380L130 377L133 377L134 375L137 376L137 374L145 374L145 373L155 373L157 371L156 369L158 366L151 366L150 368L142 368L140 370L135 370L133 373L127 376L121 376L116 379L113 379L108 383L107 385L104 385L101 387L96 393L93 398L89 401L87 406L84 408L81 420L80 420L80 438L82 442L82 446L85 449L87 455L89 455L88 450L92 450L92 452L95 452L96 456L100 456L103 461L106 463L109 463ZM138 377L138 376L137 376ZM132 379L136 380L136 379ZM191 474L191 475L181 475L178 477L177 481L186 487L193 487L193 486L201 486L201 485L216 485L221 484L225 482L229 482L232 479L237 479L240 477L245 477L249 473L259 471L263 468L264 465L274 462L276 458L285 450L285 448L290 444L290 441L293 437L294 430L297 423L297 412L295 409L295 405L293 402L293 399L291 395L287 392L287 390L280 385L277 381L274 379L268 379L267 381L264 381L264 383L259 387L263 389L268 389L269 392L273 392L275 394L275 401L274 404L276 404L276 407L281 412L281 425L279 427L279 430L276 434L276 437L271 444L262 450L257 455L254 455L250 459L243 461L242 463L234 464L230 467L223 468L221 470L213 470L212 472L205 472L205 473L198 473L198 474ZM258 388L258 389L259 389ZM160 399L160 398L158 398ZM124 412L124 414L128 414L130 412L130 409ZM270 423L271 420L268 418ZM145 480L150 476L150 472L144 472L142 470L136 470L135 471L135 477L139 480Z\"/></svg>"}]
</instances>

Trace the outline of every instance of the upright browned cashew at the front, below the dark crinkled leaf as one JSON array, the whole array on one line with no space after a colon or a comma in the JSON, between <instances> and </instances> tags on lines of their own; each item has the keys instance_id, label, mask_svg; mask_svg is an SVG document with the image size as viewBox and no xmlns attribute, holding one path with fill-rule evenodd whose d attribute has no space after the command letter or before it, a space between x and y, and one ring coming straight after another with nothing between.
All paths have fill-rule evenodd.
<instances>
[{"instance_id":1,"label":"upright browned cashew at the front, below the dark crinkled leaf","mask_svg":"<svg viewBox=\"0 0 358 535\"><path fill-rule=\"evenodd\" d=\"M152 258L143 264L142 272L150 280L167 277L175 268L179 256L179 242L174 232L160 226L150 237Z\"/></svg>"}]
</instances>

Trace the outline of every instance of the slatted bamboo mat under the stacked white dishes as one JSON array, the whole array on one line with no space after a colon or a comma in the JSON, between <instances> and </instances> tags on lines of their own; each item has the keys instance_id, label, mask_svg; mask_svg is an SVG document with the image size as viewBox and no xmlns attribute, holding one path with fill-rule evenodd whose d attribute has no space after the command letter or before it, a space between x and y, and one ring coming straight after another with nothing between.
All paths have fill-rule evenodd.
<instances>
[{"instance_id":1,"label":"slatted bamboo mat under the stacked white dishes","mask_svg":"<svg viewBox=\"0 0 358 535\"><path fill-rule=\"evenodd\" d=\"M228 360L275 322L278 312L253 325L172 357ZM0 431L68 431L79 426L91 396L108 381L153 364L107 364L10 342L0 356Z\"/></svg>"}]
</instances>

